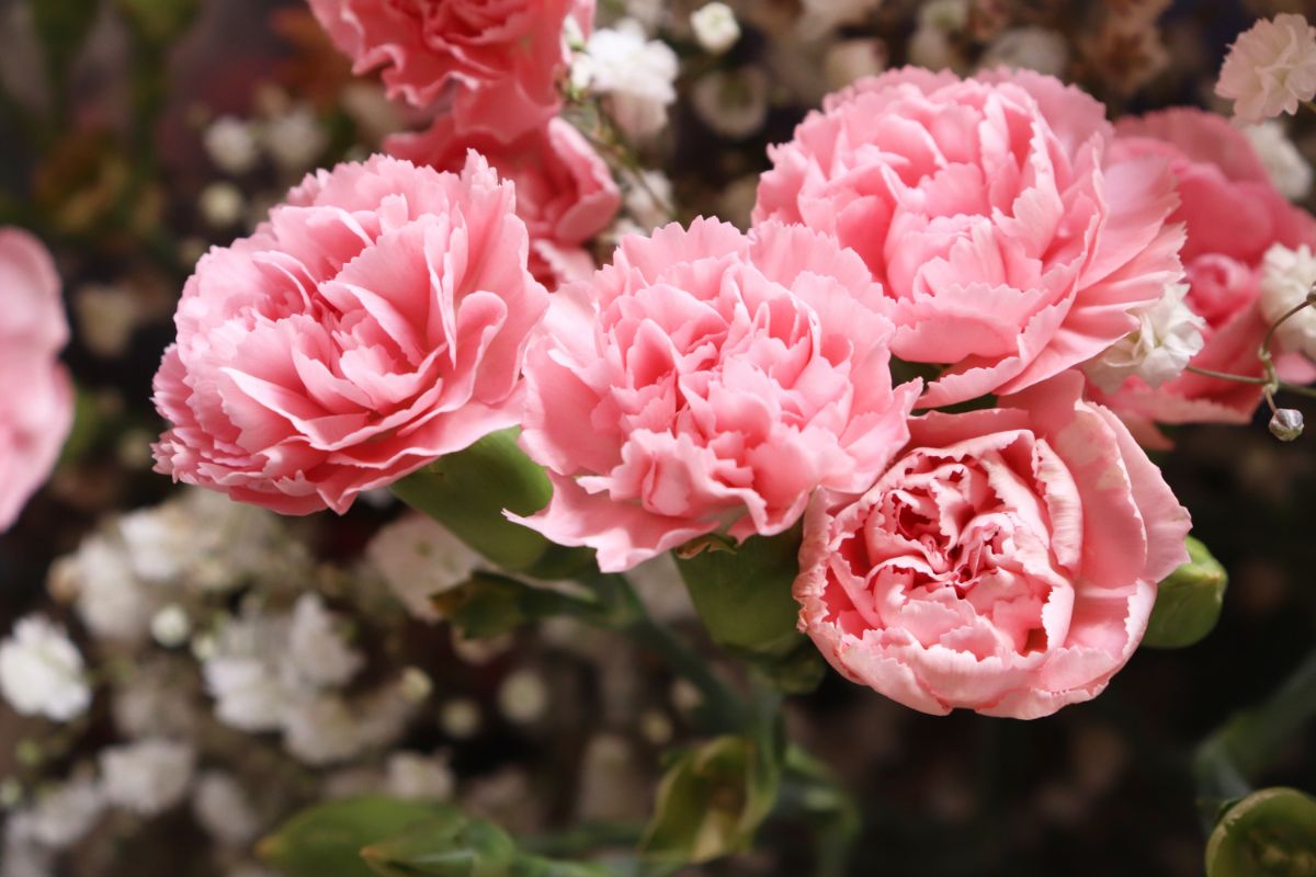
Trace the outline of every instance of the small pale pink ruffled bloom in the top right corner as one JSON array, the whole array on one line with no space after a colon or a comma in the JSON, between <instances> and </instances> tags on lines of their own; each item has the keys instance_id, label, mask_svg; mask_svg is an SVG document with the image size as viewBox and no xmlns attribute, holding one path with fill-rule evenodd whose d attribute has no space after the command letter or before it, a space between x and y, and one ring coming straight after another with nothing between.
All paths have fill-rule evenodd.
<instances>
[{"instance_id":1,"label":"small pale pink ruffled bloom in the top right corner","mask_svg":"<svg viewBox=\"0 0 1316 877\"><path fill-rule=\"evenodd\" d=\"M1216 93L1249 122L1296 113L1316 97L1316 28L1292 13L1258 21L1229 47Z\"/></svg>"}]
</instances>

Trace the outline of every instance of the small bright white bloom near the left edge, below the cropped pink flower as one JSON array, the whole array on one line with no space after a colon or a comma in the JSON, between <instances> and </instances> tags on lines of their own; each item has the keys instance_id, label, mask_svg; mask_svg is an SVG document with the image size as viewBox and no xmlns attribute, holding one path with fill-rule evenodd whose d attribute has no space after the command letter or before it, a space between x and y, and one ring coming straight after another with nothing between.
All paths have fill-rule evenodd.
<instances>
[{"instance_id":1,"label":"small bright white bloom near the left edge, below the cropped pink flower","mask_svg":"<svg viewBox=\"0 0 1316 877\"><path fill-rule=\"evenodd\" d=\"M0 694L22 715L67 722L91 703L83 659L61 625L28 615L0 643Z\"/></svg>"}]
</instances>

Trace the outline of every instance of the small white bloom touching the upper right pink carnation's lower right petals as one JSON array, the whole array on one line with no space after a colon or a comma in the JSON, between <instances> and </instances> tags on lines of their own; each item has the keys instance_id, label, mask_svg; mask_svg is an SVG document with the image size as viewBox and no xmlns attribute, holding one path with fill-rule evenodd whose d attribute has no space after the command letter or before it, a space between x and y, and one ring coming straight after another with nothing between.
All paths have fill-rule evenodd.
<instances>
[{"instance_id":1,"label":"small white bloom touching the upper right pink carnation's lower right petals","mask_svg":"<svg viewBox=\"0 0 1316 877\"><path fill-rule=\"evenodd\" d=\"M1083 367L1092 383L1112 393L1130 375L1152 387L1182 375L1202 352L1205 327L1205 321L1184 304L1187 292L1187 284L1170 284L1159 301L1134 313L1138 327Z\"/></svg>"}]
</instances>

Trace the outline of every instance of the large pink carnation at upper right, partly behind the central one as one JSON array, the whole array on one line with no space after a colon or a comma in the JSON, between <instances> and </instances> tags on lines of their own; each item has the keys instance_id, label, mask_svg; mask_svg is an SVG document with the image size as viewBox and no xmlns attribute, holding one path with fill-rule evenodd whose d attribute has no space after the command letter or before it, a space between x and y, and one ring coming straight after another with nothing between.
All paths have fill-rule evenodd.
<instances>
[{"instance_id":1,"label":"large pink carnation at upper right, partly behind the central one","mask_svg":"<svg viewBox=\"0 0 1316 877\"><path fill-rule=\"evenodd\" d=\"M1182 275L1165 163L1108 162L1111 137L1099 103L1049 76L907 67L775 147L754 218L863 256L892 354L950 367L920 405L1012 393L1109 347Z\"/></svg>"}]
</instances>

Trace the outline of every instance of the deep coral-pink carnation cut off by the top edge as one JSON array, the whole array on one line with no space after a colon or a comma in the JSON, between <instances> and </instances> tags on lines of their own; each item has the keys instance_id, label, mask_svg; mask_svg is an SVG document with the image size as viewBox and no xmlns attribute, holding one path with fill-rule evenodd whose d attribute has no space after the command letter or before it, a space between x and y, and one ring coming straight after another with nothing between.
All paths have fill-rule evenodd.
<instances>
[{"instance_id":1,"label":"deep coral-pink carnation cut off by the top edge","mask_svg":"<svg viewBox=\"0 0 1316 877\"><path fill-rule=\"evenodd\" d=\"M557 114L570 62L563 26L587 34L594 0L309 0L358 74L383 68L413 107L447 97L463 130L513 138Z\"/></svg>"}]
</instances>

